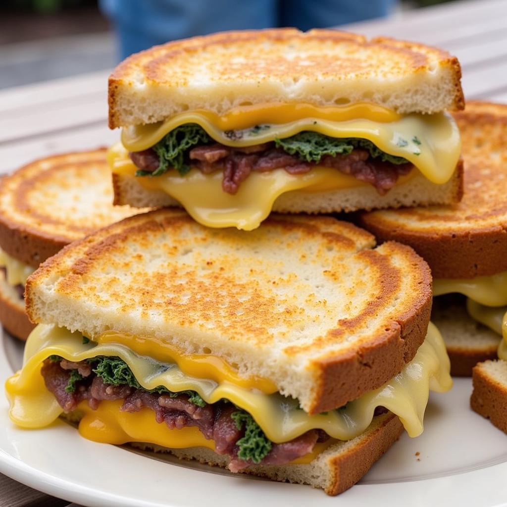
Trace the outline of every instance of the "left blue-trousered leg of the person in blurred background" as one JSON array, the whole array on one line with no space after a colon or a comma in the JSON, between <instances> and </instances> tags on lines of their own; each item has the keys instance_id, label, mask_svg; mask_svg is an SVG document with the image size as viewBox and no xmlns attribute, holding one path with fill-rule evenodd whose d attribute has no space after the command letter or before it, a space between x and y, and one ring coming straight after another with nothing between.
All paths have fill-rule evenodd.
<instances>
[{"instance_id":1,"label":"left blue-trousered leg of the person in blurred background","mask_svg":"<svg viewBox=\"0 0 507 507\"><path fill-rule=\"evenodd\" d=\"M99 0L120 58L167 41L223 30L277 26L277 0Z\"/></svg>"}]
</instances>

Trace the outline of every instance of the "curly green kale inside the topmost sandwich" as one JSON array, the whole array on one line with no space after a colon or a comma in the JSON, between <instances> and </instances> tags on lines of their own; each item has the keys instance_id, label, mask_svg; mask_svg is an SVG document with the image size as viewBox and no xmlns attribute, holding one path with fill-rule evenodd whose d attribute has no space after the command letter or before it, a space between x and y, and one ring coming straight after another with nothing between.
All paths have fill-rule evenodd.
<instances>
[{"instance_id":1,"label":"curly green kale inside the topmost sandwich","mask_svg":"<svg viewBox=\"0 0 507 507\"><path fill-rule=\"evenodd\" d=\"M269 125L256 125L250 129L250 135L258 135L263 130L269 129ZM226 135L231 139L240 139L242 131L227 131ZM420 145L421 141L414 136L412 141ZM159 166L154 172L136 171L136 176L160 176L168 169L174 167L180 175L184 176L190 171L188 164L188 150L196 144L209 144L215 142L206 131L195 123L180 125L168 132L155 146L153 150L159 157ZM400 144L401 143L401 144ZM408 161L403 157L396 157L383 152L368 139L355 137L330 137L318 132L299 132L285 139L275 138L277 148L281 148L290 155L297 155L301 160L318 163L325 155L336 157L348 155L356 148L362 148L370 152L372 158L379 158L383 162L393 164L406 164ZM398 146L407 146L408 141L400 139ZM416 153L418 155L419 153Z\"/></svg>"}]
</instances>

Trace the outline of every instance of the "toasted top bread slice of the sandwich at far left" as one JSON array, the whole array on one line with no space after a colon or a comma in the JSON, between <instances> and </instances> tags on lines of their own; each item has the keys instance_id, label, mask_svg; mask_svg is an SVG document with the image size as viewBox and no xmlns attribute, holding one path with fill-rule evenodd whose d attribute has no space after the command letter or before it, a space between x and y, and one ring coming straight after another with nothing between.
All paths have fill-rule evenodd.
<instances>
[{"instance_id":1,"label":"toasted top bread slice of the sandwich at far left","mask_svg":"<svg viewBox=\"0 0 507 507\"><path fill-rule=\"evenodd\" d=\"M5 175L0 180L0 247L11 257L28 264L34 268L52 257L63 246L77 238L89 234L94 229L90 226L83 227L75 224L74 216L69 211L68 215L55 218L40 209L39 203L33 201L33 195L41 197L48 192L47 183L59 184L65 177L71 177L71 171L77 170L83 178L75 180L75 187L81 185L83 190L87 186L93 188L97 194L103 190L104 184L97 184L86 178L86 173L100 169L104 176L109 172L106 163L106 148L84 152L69 152L51 157L44 157L24 165L15 172ZM92 187L93 186L93 187ZM65 191L65 184L61 189ZM61 198L61 196L59 196ZM112 196L111 196L112 198ZM48 202L49 196L48 196ZM90 220L94 225L108 225L111 220L99 222L96 211L90 206ZM113 212L113 207L111 206ZM121 219L129 214L140 212L138 209L121 211L115 210L115 218ZM51 232L55 224L65 222L65 234Z\"/></svg>"}]
</instances>

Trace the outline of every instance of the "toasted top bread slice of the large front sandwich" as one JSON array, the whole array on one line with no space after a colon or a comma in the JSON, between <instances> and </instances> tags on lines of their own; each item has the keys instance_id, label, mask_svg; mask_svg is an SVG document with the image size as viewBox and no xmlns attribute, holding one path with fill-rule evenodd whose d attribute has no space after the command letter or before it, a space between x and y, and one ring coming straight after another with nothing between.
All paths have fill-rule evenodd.
<instances>
[{"instance_id":1,"label":"toasted top bread slice of the large front sandwich","mask_svg":"<svg viewBox=\"0 0 507 507\"><path fill-rule=\"evenodd\" d=\"M315 332L312 330L308 334L303 335L304 339L299 340L296 338L299 336L298 334L293 335L288 330L294 330L295 327L303 327L308 323L307 319L309 316L304 316L306 315L304 306L301 307L300 303L297 305L292 303L293 299L298 297L297 295L292 294L290 299L278 298L277 295L279 293L273 292L278 289L272 288L276 287L276 283L278 283L276 280L275 285L271 281L266 284L260 283L256 285L257 288L245 304L232 304L229 302L230 298L228 298L227 307L229 311L227 319L224 320L219 304L220 298L223 297L221 295L223 293L234 294L236 290L241 291L243 295L248 295L253 285L250 282L248 284L242 282L243 275L241 274L241 270L229 269L230 277L225 278L223 275L215 275L216 272L228 273L228 270L225 266L221 266L219 259L214 258L214 264L212 263L210 266L215 267L209 271L209 275L206 275L210 277L210 280L213 280L212 291L210 286L205 284L200 289L199 294L192 295L191 299L188 299L182 306L179 306L179 303L176 303L179 301L178 291L184 291L185 297L188 298L188 295L191 294L188 292L188 287L193 285L197 287L202 283L199 281L200 278L194 280L193 271L190 271L190 265L187 265L188 267L186 268L188 280L181 288L177 288L172 284L172 275L165 274L163 277L152 276L150 279L143 281L142 294L139 293L139 297L141 298L139 302L136 302L138 295L133 289L131 290L132 299L123 301L123 304L126 305L126 313L123 314L124 317L121 319L122 329L118 329L118 331L139 335L150 334L148 330L144 329L145 325L150 325L151 334L153 334L153 323L150 324L153 313L167 315L167 321L162 319L160 325L170 326L170 329L176 330L179 330L182 326L183 328L181 329L184 330L186 329L185 326L195 325L196 319L200 321L200 319L204 318L207 321L212 318L213 334L208 335L207 347L212 348L212 344L216 340L216 353L224 357L230 354L233 357L233 354L238 354L238 348L235 345L236 341L241 341L243 344L241 345L242 348L245 347L245 342L249 343L250 346L255 343L256 349L265 350L266 356L263 357L262 366L257 363L256 366L252 364L249 367L251 370L245 371L253 371L255 369L255 375L266 375L268 378L273 377L272 380L278 383L280 392L298 397L302 407L309 413L335 409L336 407L345 405L345 403L355 399L364 392L380 387L402 370L404 365L413 358L416 350L424 341L432 301L431 276L427 264L410 247L399 243L385 243L378 248L371 249L374 244L372 242L373 238L366 231L357 229L349 223L339 222L330 217L322 216L305 218L293 215L271 215L270 219L265 222L265 225L261 226L261 229L250 233L203 228L192 221L186 213L179 210L164 209L131 217L94 235L88 236L84 240L65 247L65 249L49 259L36 273L30 276L26 284L28 315L33 321L56 321L55 323L58 325L71 329L78 327L86 336L93 337L102 332L105 320L101 320L98 314L96 317L90 318L88 310L86 316L84 314L79 317L76 316L81 310L79 305L74 303L74 295L78 299L87 297L91 298L90 301L93 301L93 299L97 298L93 294L100 292L103 296L101 296L100 302L97 302L96 306L97 308L107 306L108 303L103 297L110 289L104 288L102 290L98 287L98 279L92 274L95 269L95 263L104 262L103 260L107 258L110 273L113 271L120 273L123 270L131 271L133 265L130 258L125 261L128 267L122 268L120 265L115 265L116 262L120 264L123 262L120 251L123 251L124 245L136 237L151 238L152 235L166 234L164 232L166 230L171 231L171 244L173 244L174 248L177 248L178 245L175 239L178 231L188 230L188 235L185 235L187 239L182 243L184 249L187 248L185 245L186 241L189 241L188 238L194 237L194 235L201 238L198 243L192 243L195 246L199 243L207 245L209 241L205 239L207 236L215 238L212 239L211 244L216 245L216 241L218 241L216 238L221 235L220 251L221 255L225 256L223 262L227 262L229 268L231 264L237 265L241 261L237 261L235 257L230 257L230 254L229 257L226 256L225 252L230 251L230 245L234 245L234 251L236 251L237 242L242 241L242 238L246 240L247 238L255 237L254 235L272 234L272 232L264 233L264 230L276 231L276 235L280 238L280 241L284 241L285 237L294 238L294 235L302 234L304 235L304 239L301 239L300 242L308 241L310 242L309 244L316 245L324 241L325 244L333 246L331 250L323 247L322 253L320 253L320 256L325 256L328 255L324 253L325 251L333 252L329 253L330 257L325 261L325 266L328 266L328 268L324 271L324 273L329 273L326 276L330 277L330 291L331 287L335 287L335 279L339 279L341 273L329 270L330 268L332 269L333 263L341 262L341 255L345 255L346 259L348 259L347 262L357 263L357 266L365 266L365 268L361 269L368 269L368 272L371 273L370 276L375 277L374 295L371 300L361 300L359 306L353 312L353 318L342 318L338 322L336 321L336 314L334 312L329 313L330 310L326 308L334 308L334 306L330 305L340 304L338 301L341 301L341 299L336 302L331 299L325 302L318 302L318 304L325 305L319 310L321 315L318 318L323 319L325 317L325 320L322 322L326 322L326 325L322 327L322 331ZM263 241L262 237L258 241ZM151 243L149 240L141 239L140 241L143 251L150 251ZM297 252L298 258L301 259L299 256L302 255L303 262L306 262L304 261L305 255L308 254L306 248L301 246L301 249L298 249L298 246L293 241L294 239L291 239L292 249L294 252ZM272 243L273 241L269 241L270 246ZM265 243L259 244L264 245L263 248L268 248L268 245ZM279 247L283 247L283 243L280 243ZM117 250L118 248L120 250ZM250 247L248 251L250 251ZM340 252L343 252L343 254ZM156 255L155 252L153 254ZM118 261L116 261L117 259ZM394 266L392 259L397 259L396 262L401 264ZM166 272L169 268L170 266L166 266ZM271 276L266 275L268 272L266 270L268 269L271 269L271 267L266 262L263 264L263 276ZM295 267L292 267L292 269L295 269ZM299 272L296 271L296 273ZM61 281L57 282L58 286L55 287L55 292L52 294L57 294L58 298L63 299L61 303L54 303L56 305L54 306L54 310L50 309L53 303L49 303L50 306L42 303L46 297L44 296L45 289L42 287L46 283L45 280L48 276L52 278L59 278L61 276ZM261 280L259 278L261 275L257 276L258 280ZM93 294L88 294L86 291L83 292L81 277L92 277L95 280ZM107 276L102 276L102 282L107 284L107 278ZM170 283L166 286L168 279ZM296 276L294 280L298 280L298 277ZM294 287L294 283L295 281L291 282L291 287ZM236 284L239 284L237 288L235 288ZM410 293L407 294L406 291L409 285L411 289ZM110 285L107 286L109 287ZM161 287L165 287L164 291L174 294L171 300L160 299L157 296L156 293L161 290ZM306 290L311 289L305 288ZM323 289L319 290L322 291ZM351 290L353 292L353 289ZM216 299L216 308L214 306L211 307L209 302L202 298L202 291L206 293L206 297ZM403 300L395 300L396 295L400 295L400 291L404 295L406 294L406 297ZM347 292L346 294L348 295L349 293ZM311 298L314 296L315 294L310 294ZM48 297L53 298L53 296ZM113 299L115 297L113 296ZM320 295L319 297L322 298L323 296ZM349 297L354 298L352 293L350 293ZM67 298L70 298L68 299L68 303L64 303ZM274 312L273 305L275 301L277 304L282 304L283 302L285 310L282 313ZM65 314L58 311L59 305L67 306L67 304L73 307L73 311L64 312ZM301 304L304 305L304 303ZM150 310L150 312L144 311L144 313L140 314L140 318L130 320L130 308L132 305L135 308ZM388 305L388 310L386 310L386 305ZM391 307L390 305L395 306ZM61 307L63 308L63 306ZM314 308L313 303L310 304L309 308ZM184 309L186 309L186 316L178 317L175 321L175 316L183 315ZM57 313L52 314L52 311ZM78 318L79 324L76 320ZM110 317L108 316L107 318ZM269 331L273 325L273 319L276 319L278 327L282 327L283 333L276 333L274 335ZM101 323L99 323L99 320ZM367 323L372 321L376 322L374 332L367 325ZM177 328L172 328L175 325L174 322L177 322ZM114 324L111 322L107 325L110 326L109 329L112 329L111 325L118 326L118 322ZM233 335L231 335L231 330L234 330ZM188 353L196 352L197 347L202 346L201 341L196 341L198 336L200 336L199 333L192 341L189 336L183 341L178 336L180 332L171 332L174 345L184 347L183 350L188 349ZM318 333L321 332L323 334L319 335ZM160 333L167 335L169 332L163 332L161 328ZM157 330L155 330L153 336L158 336ZM344 340L346 341L351 336L354 337L352 343L347 342L346 347L340 346L344 343ZM274 346L276 350L283 352L284 362L282 365L287 370L284 371L281 377L280 373L275 373L281 371L281 366L270 366L269 372L268 370L264 370L268 368L267 363L269 361L267 355L270 346ZM259 360L257 356L255 358L250 356L252 356L251 353L244 357L234 355L234 361L243 365L249 364L248 361L254 359L256 361ZM275 359L271 358L270 360L273 361ZM300 367L294 368L293 366L288 366L297 364L298 361L304 361L304 364L307 365L303 371ZM261 371L264 373L261 373ZM278 379L275 379L275 375L278 375ZM292 376L295 377L293 378ZM301 386L301 392L290 391L290 389L295 389L295 382L303 378L308 379L306 387L303 389L303 386Z\"/></svg>"}]
</instances>

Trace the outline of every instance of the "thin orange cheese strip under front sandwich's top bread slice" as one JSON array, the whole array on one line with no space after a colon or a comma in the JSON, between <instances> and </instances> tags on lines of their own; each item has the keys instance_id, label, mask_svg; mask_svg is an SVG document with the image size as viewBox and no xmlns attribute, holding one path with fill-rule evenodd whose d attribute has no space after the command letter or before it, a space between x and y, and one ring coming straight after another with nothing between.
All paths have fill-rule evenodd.
<instances>
[{"instance_id":1,"label":"thin orange cheese strip under front sandwich's top bread slice","mask_svg":"<svg viewBox=\"0 0 507 507\"><path fill-rule=\"evenodd\" d=\"M175 363L183 373L191 377L213 380L217 383L230 382L245 389L259 389L272 394L278 389L269 379L259 377L242 378L224 359L212 354L183 354L174 345L149 336L134 336L108 331L98 336L100 344L119 343L138 355L147 355L165 363Z\"/></svg>"}]
</instances>

